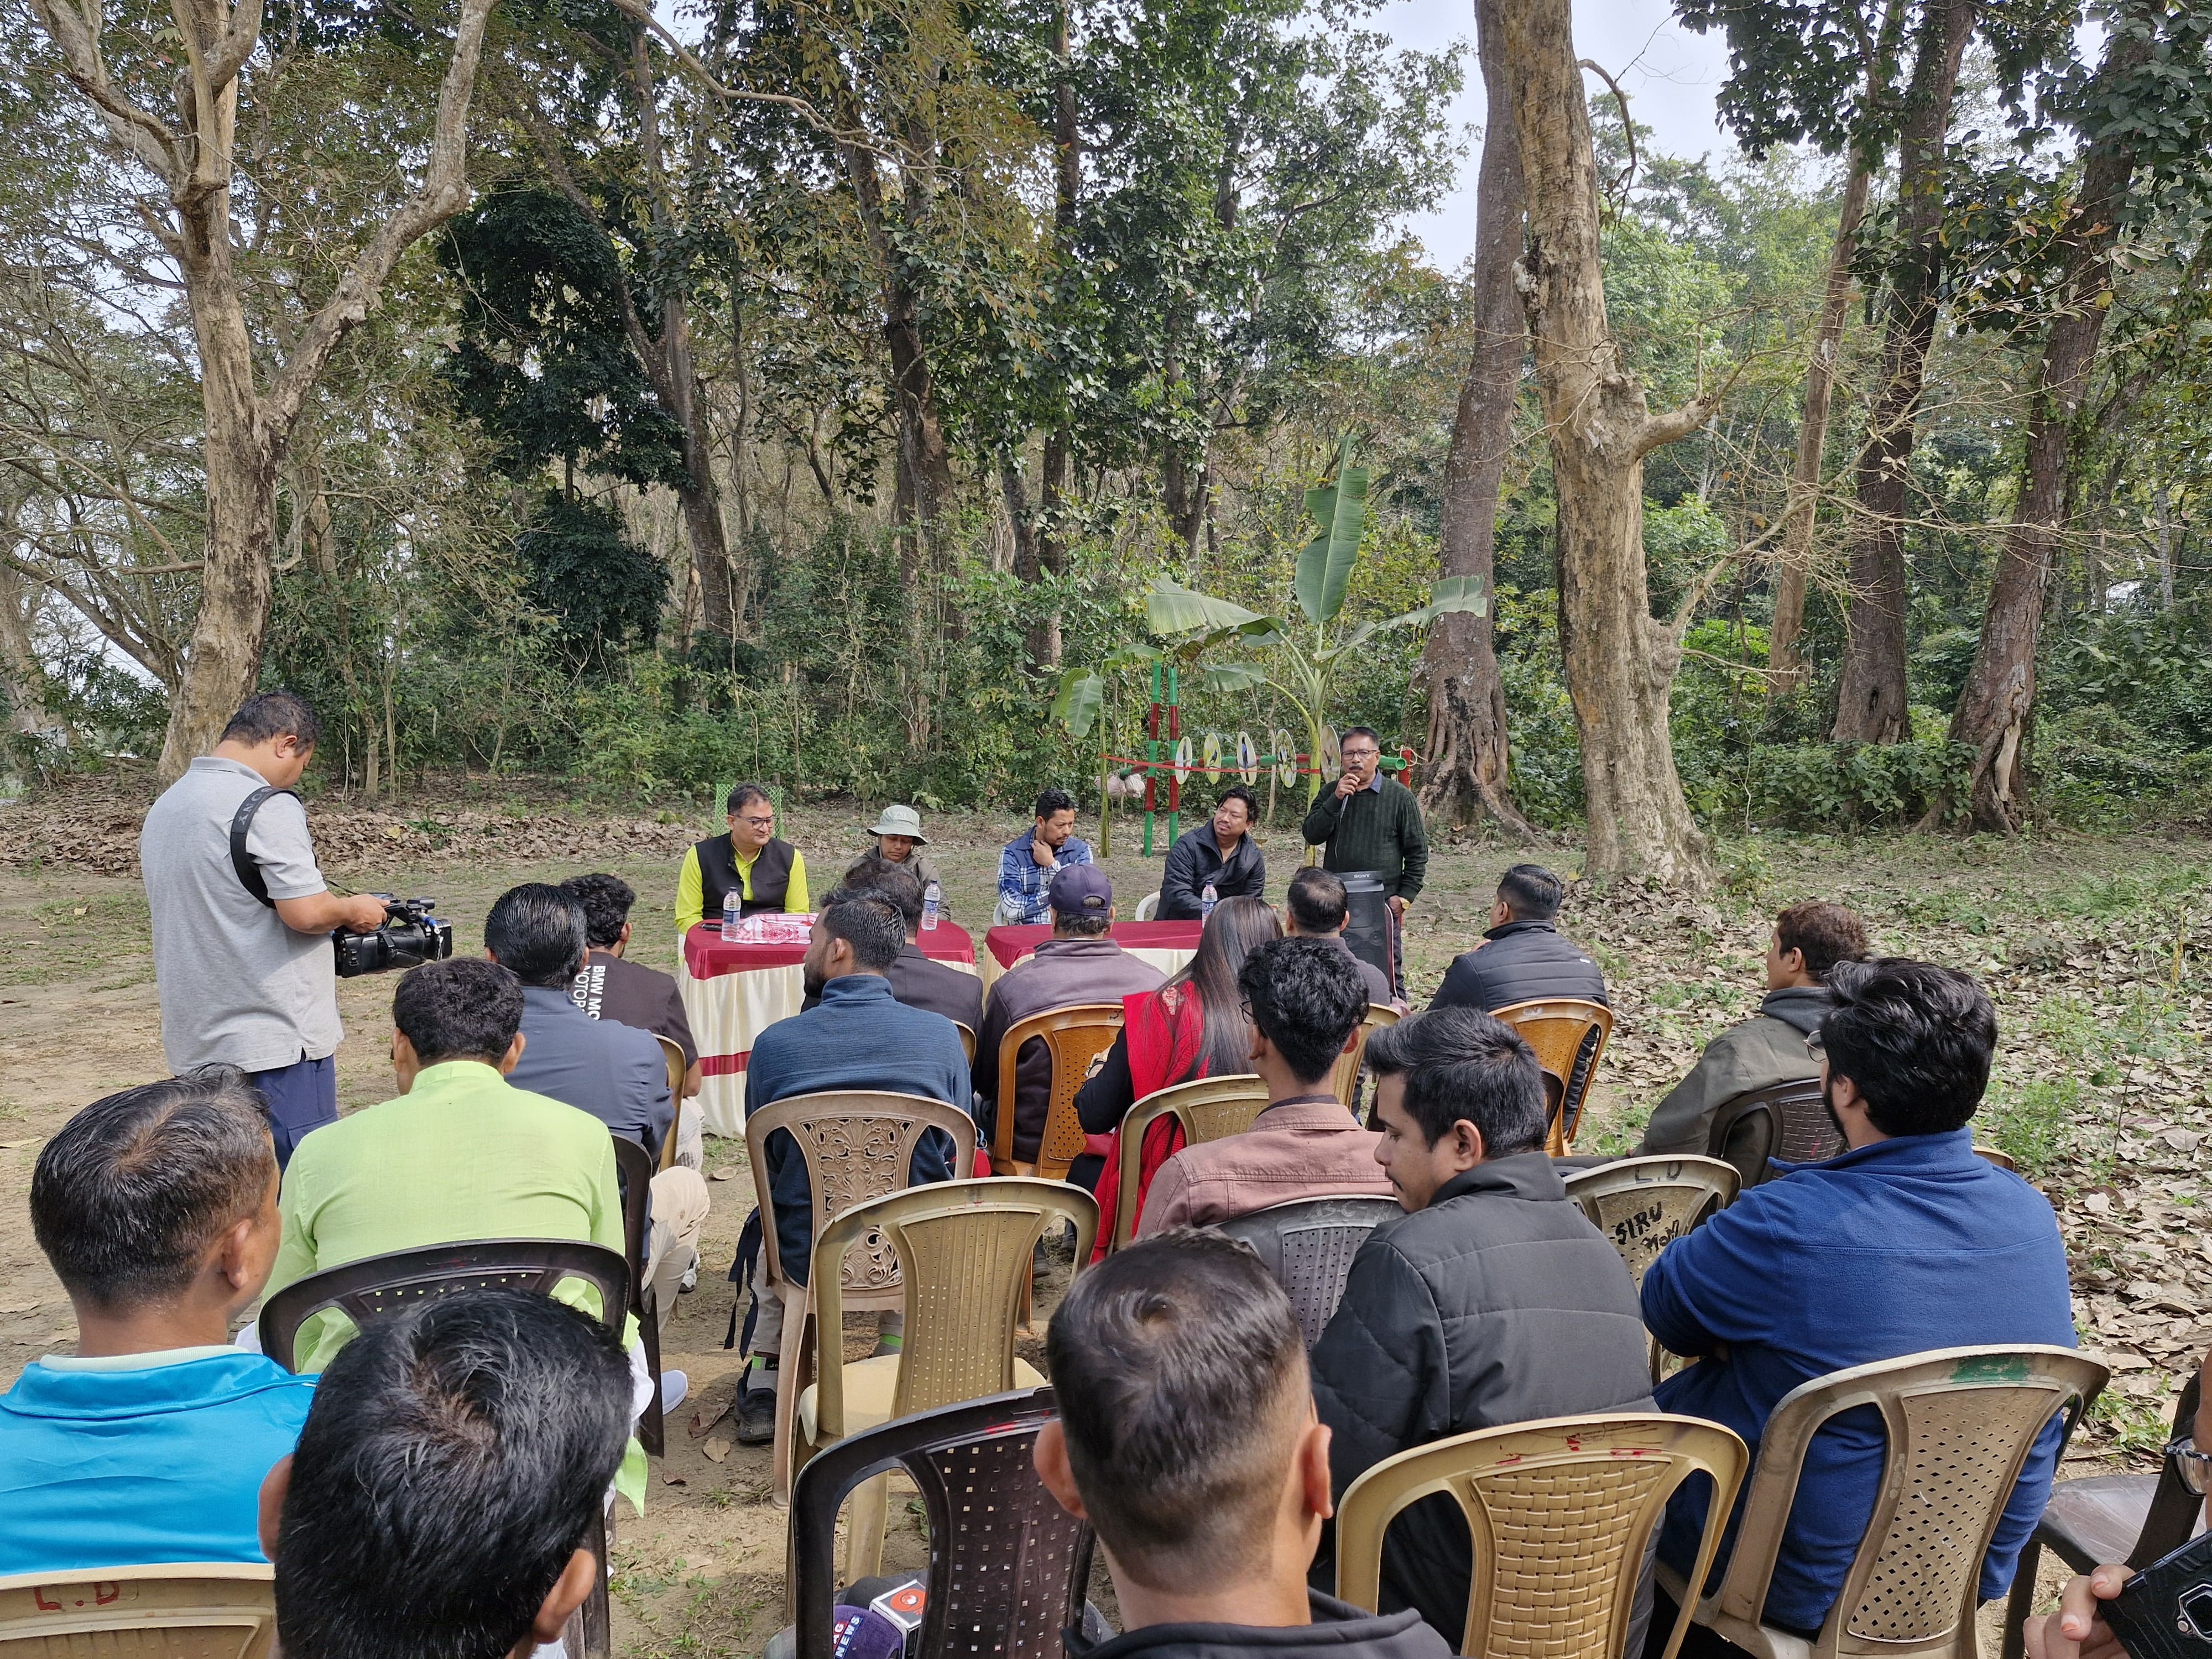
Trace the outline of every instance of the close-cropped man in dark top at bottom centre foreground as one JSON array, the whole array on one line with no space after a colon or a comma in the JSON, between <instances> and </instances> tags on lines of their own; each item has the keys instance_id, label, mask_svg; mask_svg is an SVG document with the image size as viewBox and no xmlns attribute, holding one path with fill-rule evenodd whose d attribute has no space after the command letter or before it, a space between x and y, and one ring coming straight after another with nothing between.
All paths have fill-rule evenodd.
<instances>
[{"instance_id":1,"label":"close-cropped man in dark top at bottom centre foreground","mask_svg":"<svg viewBox=\"0 0 2212 1659\"><path fill-rule=\"evenodd\" d=\"M1037 1475L1106 1546L1124 1635L1068 1659L1321 1650L1447 1659L1411 1610L1307 1590L1332 1513L1290 1301L1243 1245L1170 1232L1077 1276L1044 1338L1060 1420Z\"/></svg>"}]
</instances>

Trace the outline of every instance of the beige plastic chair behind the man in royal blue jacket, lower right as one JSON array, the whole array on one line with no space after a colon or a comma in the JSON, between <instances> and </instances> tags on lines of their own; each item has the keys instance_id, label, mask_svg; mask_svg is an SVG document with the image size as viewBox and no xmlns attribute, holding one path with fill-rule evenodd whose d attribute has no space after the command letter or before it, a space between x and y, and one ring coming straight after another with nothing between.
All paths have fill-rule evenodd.
<instances>
[{"instance_id":1,"label":"beige plastic chair behind the man in royal blue jacket, lower right","mask_svg":"<svg viewBox=\"0 0 2212 1659\"><path fill-rule=\"evenodd\" d=\"M1697 1621L1756 1659L1978 1659L1975 1588L2020 1467L2053 1416L2066 1433L2106 1383L2066 1347L1944 1347L1792 1389L1767 1418L1719 1593ZM1882 1413L1887 1453L1867 1535L1814 1641L1759 1621L1805 1447L1838 1411ZM2064 1455L2064 1447L2062 1447ZM1703 1573L1692 1584L1703 1584ZM1659 1584L1690 1606L1661 1562Z\"/></svg>"}]
</instances>

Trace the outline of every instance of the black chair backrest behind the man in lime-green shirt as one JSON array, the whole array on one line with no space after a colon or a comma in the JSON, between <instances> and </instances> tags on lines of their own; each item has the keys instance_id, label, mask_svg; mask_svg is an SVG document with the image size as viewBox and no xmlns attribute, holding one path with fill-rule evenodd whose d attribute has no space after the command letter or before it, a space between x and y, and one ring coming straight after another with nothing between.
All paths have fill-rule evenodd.
<instances>
[{"instance_id":1,"label":"black chair backrest behind the man in lime-green shirt","mask_svg":"<svg viewBox=\"0 0 2212 1659\"><path fill-rule=\"evenodd\" d=\"M580 1239L471 1239L363 1256L285 1285L261 1303L261 1352L290 1371L299 1327L316 1314L341 1312L361 1329L425 1296L491 1287L551 1296L564 1279L593 1285L599 1292L599 1321L622 1329L630 1267L606 1245Z\"/></svg>"}]
</instances>

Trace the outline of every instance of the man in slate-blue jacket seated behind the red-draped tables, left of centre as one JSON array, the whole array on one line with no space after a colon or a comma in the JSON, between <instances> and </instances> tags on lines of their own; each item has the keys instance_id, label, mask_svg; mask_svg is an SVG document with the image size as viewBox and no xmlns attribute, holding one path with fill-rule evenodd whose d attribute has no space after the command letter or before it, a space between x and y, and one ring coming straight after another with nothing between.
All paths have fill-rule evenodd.
<instances>
[{"instance_id":1,"label":"man in slate-blue jacket seated behind the red-draped tables, left of centre","mask_svg":"<svg viewBox=\"0 0 2212 1659\"><path fill-rule=\"evenodd\" d=\"M807 940L805 989L818 1006L776 1020L745 1062L745 1115L792 1095L832 1088L927 1095L969 1110L967 1051L953 1022L909 1009L885 978L907 945L907 920L885 894L838 889L823 900ZM931 1130L914 1148L914 1183L951 1177L951 1139ZM814 1256L814 1188L807 1164L787 1135L768 1139L768 1181L783 1272L807 1281ZM732 1279L748 1270L743 1252ZM898 1314L883 1316L880 1352L898 1349ZM737 1398L737 1438L765 1447L776 1436L776 1356L783 1343L783 1298L754 1290L748 1352L752 1365Z\"/></svg>"}]
</instances>

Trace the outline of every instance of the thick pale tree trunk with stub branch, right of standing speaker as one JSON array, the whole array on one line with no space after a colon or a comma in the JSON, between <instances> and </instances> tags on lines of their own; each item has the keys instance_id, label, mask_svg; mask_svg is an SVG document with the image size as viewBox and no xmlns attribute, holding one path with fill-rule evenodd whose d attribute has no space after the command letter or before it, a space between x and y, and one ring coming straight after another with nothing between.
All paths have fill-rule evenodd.
<instances>
[{"instance_id":1,"label":"thick pale tree trunk with stub branch, right of standing speaker","mask_svg":"<svg viewBox=\"0 0 2212 1659\"><path fill-rule=\"evenodd\" d=\"M1712 880L1668 743L1681 626L1650 613L1644 456L1697 431L1705 394L1652 416L1606 321L1597 161L1566 0L1500 0L1504 69L1528 190L1522 296L1559 495L1559 630L1582 739L1588 872L1670 887Z\"/></svg>"}]
</instances>

